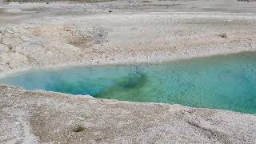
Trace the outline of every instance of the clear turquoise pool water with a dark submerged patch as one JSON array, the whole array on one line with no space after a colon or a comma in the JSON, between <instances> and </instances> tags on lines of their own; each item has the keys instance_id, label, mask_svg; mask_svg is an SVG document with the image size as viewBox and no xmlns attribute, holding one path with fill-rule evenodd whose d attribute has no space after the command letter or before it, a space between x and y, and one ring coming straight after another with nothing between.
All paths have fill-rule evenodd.
<instances>
[{"instance_id":1,"label":"clear turquoise pool water with a dark submerged patch","mask_svg":"<svg viewBox=\"0 0 256 144\"><path fill-rule=\"evenodd\" d=\"M256 53L139 66L33 71L0 80L27 90L90 94L256 114Z\"/></svg>"}]
</instances>

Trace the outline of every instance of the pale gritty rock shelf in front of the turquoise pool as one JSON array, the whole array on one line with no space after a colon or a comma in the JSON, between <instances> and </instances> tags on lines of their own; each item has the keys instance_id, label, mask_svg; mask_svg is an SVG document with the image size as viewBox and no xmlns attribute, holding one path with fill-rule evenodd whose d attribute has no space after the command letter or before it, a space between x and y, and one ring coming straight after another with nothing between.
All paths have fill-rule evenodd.
<instances>
[{"instance_id":1,"label":"pale gritty rock shelf in front of the turquoise pool","mask_svg":"<svg viewBox=\"0 0 256 144\"><path fill-rule=\"evenodd\" d=\"M0 86L0 143L256 141L256 116Z\"/></svg>"}]
</instances>

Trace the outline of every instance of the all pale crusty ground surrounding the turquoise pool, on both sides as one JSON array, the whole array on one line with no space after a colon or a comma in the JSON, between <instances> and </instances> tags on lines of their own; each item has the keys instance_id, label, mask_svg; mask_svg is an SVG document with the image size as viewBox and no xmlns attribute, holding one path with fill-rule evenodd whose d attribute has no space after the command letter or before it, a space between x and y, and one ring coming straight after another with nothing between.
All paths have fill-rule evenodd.
<instances>
[{"instance_id":1,"label":"all pale crusty ground surrounding the turquoise pool, on both sides","mask_svg":"<svg viewBox=\"0 0 256 144\"><path fill-rule=\"evenodd\" d=\"M0 1L1 2L1 1ZM256 50L256 2L2 2L0 74ZM254 143L256 117L0 87L0 143Z\"/></svg>"}]
</instances>

